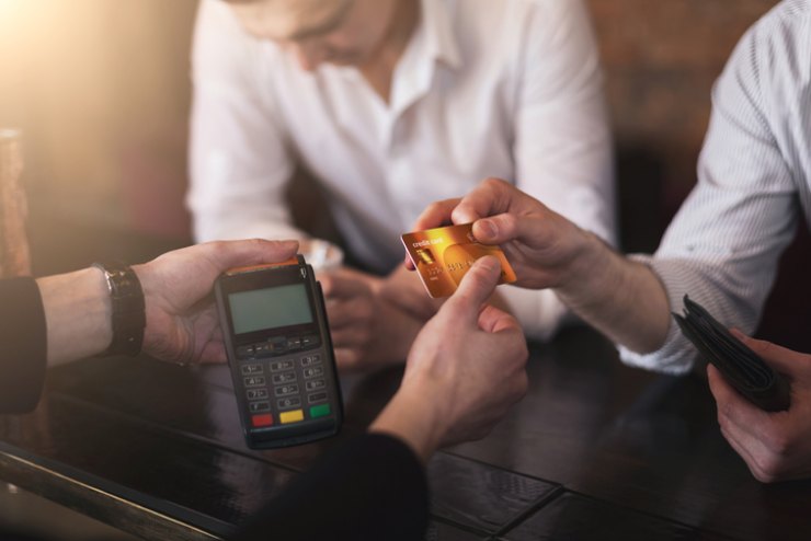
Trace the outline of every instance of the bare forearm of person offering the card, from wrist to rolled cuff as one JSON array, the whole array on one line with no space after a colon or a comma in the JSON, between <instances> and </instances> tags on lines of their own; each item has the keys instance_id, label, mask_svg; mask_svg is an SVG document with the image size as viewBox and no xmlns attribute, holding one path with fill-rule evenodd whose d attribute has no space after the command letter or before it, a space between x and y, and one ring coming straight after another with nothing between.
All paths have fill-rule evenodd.
<instances>
[{"instance_id":1,"label":"bare forearm of person offering the card, from wrist to rolled cuff","mask_svg":"<svg viewBox=\"0 0 811 541\"><path fill-rule=\"evenodd\" d=\"M574 313L617 344L638 353L659 349L667 336L671 307L659 277L592 233L581 256L556 289Z\"/></svg>"}]
</instances>

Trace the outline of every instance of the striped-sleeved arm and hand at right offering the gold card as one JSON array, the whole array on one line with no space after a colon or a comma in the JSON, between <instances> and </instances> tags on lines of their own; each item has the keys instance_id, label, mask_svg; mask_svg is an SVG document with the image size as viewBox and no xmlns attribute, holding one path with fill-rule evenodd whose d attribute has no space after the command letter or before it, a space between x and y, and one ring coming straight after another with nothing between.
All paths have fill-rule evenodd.
<instances>
[{"instance_id":1,"label":"striped-sleeved arm and hand at right offering the gold card","mask_svg":"<svg viewBox=\"0 0 811 541\"><path fill-rule=\"evenodd\" d=\"M797 14L790 19L802 24ZM776 27L783 32L781 24ZM788 113L775 116L774 111L787 105L766 89L776 85L781 96L793 95L791 110L809 107L803 94L791 94L787 80L787 73L808 68L785 65L801 57L796 51L772 58L788 42L767 35L767 28L761 24L747 34L716 85L698 185L655 256L616 254L541 203L492 181L461 203L429 209L418 227L452 216L456 223L491 216L473 232L483 242L509 243L511 263L524 268L519 284L553 288L569 308L622 346L625 361L685 372L695 349L671 324L670 312L688 293L726 325L753 330L798 219L796 173L781 148L788 157L806 152L793 147L804 139L795 141L796 134L779 125ZM500 231L489 233L484 225Z\"/></svg>"}]
</instances>

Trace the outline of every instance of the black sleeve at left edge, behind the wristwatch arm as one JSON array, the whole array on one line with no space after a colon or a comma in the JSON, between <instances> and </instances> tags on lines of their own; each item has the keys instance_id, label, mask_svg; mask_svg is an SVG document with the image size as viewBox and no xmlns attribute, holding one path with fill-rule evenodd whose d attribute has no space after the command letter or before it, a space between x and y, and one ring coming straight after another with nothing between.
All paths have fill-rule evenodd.
<instances>
[{"instance_id":1,"label":"black sleeve at left edge, behind the wristwatch arm","mask_svg":"<svg viewBox=\"0 0 811 541\"><path fill-rule=\"evenodd\" d=\"M45 382L46 341L34 278L0 280L0 413L36 407Z\"/></svg>"}]
</instances>

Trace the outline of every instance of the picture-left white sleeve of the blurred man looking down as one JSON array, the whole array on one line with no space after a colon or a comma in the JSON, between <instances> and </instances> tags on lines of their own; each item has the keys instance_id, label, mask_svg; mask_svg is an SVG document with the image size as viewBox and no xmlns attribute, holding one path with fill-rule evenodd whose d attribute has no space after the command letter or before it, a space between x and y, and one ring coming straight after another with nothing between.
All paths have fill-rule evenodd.
<instances>
[{"instance_id":1,"label":"picture-left white sleeve of the blurred man looking down","mask_svg":"<svg viewBox=\"0 0 811 541\"><path fill-rule=\"evenodd\" d=\"M272 89L260 74L272 58L229 5L201 2L195 27L186 197L199 242L292 239L285 189L293 174Z\"/></svg>"}]
</instances>

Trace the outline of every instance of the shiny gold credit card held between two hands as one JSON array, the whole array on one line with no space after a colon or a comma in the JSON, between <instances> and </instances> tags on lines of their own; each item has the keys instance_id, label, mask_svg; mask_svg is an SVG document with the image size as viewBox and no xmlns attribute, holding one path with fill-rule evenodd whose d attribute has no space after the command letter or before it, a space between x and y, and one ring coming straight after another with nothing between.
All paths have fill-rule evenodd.
<instances>
[{"instance_id":1,"label":"shiny gold credit card held between two hands","mask_svg":"<svg viewBox=\"0 0 811 541\"><path fill-rule=\"evenodd\" d=\"M504 252L477 242L472 223L406 233L402 243L431 297L453 295L473 262L484 255L494 255L501 262L499 284L515 281Z\"/></svg>"}]
</instances>

